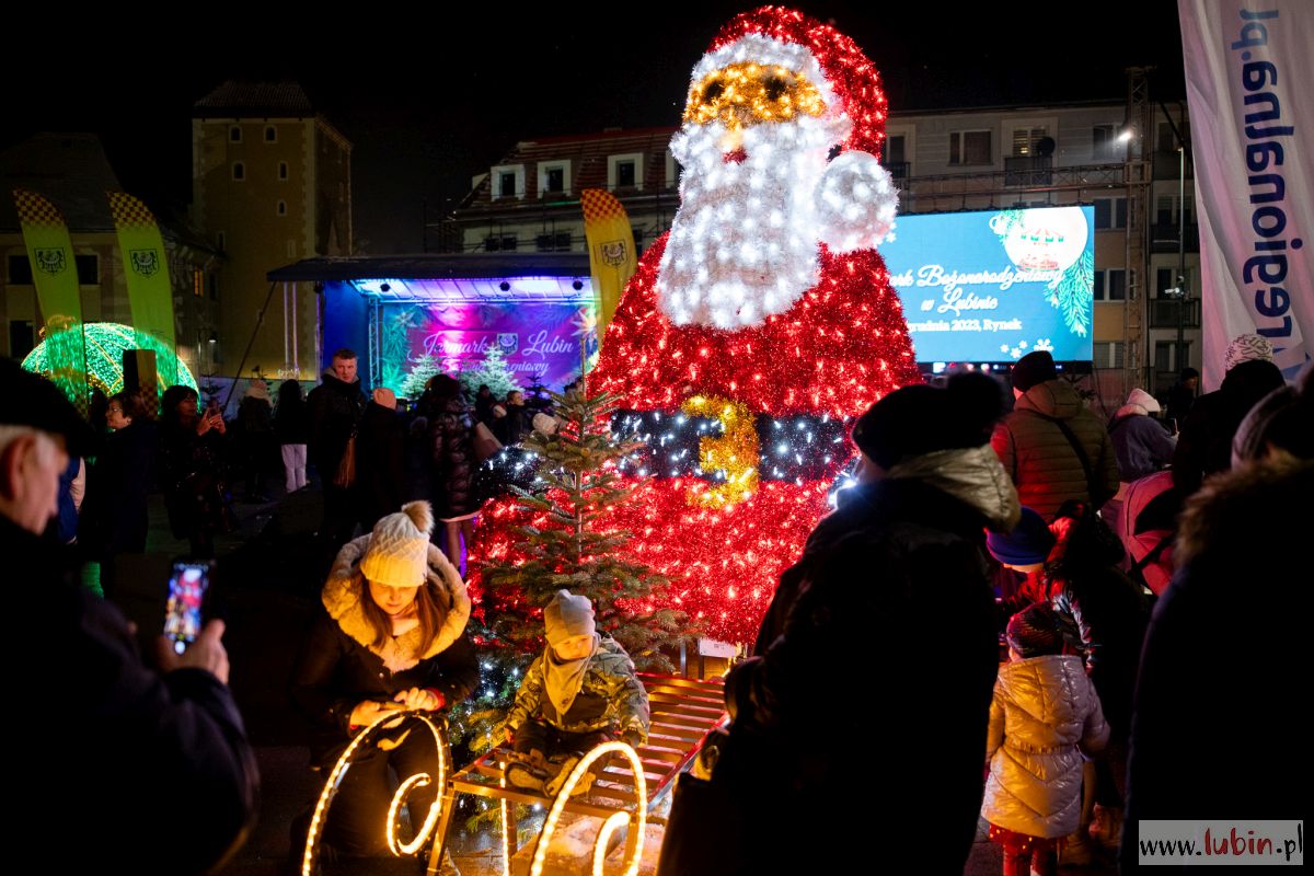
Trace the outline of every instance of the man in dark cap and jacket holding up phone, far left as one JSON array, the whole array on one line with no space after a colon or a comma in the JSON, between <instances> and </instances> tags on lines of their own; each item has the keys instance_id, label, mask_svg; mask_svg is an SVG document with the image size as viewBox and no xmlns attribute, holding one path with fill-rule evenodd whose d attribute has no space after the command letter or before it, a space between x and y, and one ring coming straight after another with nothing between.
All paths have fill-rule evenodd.
<instances>
[{"instance_id":1,"label":"man in dark cap and jacket holding up phone, far left","mask_svg":"<svg viewBox=\"0 0 1314 876\"><path fill-rule=\"evenodd\" d=\"M59 473L88 450L91 428L53 383L9 360L0 383L0 552L16 584L9 608L25 619L3 658L60 687L12 725L9 835L53 855L55 869L213 872L244 839L259 795L223 624L210 621L181 655L159 647L160 671L142 663L124 616L79 584L72 552L41 537Z\"/></svg>"}]
</instances>

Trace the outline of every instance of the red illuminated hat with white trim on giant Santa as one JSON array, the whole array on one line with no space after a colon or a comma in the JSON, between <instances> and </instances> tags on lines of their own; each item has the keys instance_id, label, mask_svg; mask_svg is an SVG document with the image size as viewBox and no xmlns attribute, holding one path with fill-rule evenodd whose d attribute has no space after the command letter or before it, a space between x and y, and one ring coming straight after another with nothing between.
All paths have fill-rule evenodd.
<instances>
[{"instance_id":1,"label":"red illuminated hat with white trim on giant Santa","mask_svg":"<svg viewBox=\"0 0 1314 876\"><path fill-rule=\"evenodd\" d=\"M825 84L838 100L841 110L851 120L853 127L841 147L880 155L886 141L887 110L886 93L875 64L853 39L795 9L761 7L732 18L712 39L707 55L695 68L694 81L698 81L703 64L714 55L754 35L805 49L825 75ZM752 56L754 47L744 47ZM777 62L777 58L758 59Z\"/></svg>"}]
</instances>

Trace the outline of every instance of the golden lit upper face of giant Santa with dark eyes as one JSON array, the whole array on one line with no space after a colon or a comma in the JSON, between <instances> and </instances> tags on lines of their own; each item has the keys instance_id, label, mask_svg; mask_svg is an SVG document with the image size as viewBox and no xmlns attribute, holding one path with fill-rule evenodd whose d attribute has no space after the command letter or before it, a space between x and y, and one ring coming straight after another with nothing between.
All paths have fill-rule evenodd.
<instances>
[{"instance_id":1,"label":"golden lit upper face of giant Santa with dark eyes","mask_svg":"<svg viewBox=\"0 0 1314 876\"><path fill-rule=\"evenodd\" d=\"M695 125L720 121L728 130L758 122L824 116L825 99L803 74L752 62L715 70L689 91L685 121Z\"/></svg>"}]
</instances>

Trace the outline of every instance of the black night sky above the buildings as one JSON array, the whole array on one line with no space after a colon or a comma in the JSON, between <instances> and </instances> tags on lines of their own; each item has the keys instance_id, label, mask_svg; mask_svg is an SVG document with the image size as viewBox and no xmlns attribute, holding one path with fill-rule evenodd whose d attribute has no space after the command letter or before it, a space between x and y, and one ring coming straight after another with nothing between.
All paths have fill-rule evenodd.
<instances>
[{"instance_id":1,"label":"black night sky above the buildings","mask_svg":"<svg viewBox=\"0 0 1314 876\"><path fill-rule=\"evenodd\" d=\"M1184 95L1172 0L951 14L936 3L796 7L862 46L894 112L1123 100L1129 64L1158 67L1156 99ZM145 18L80 20L72 34L51 32L49 20L18 24L7 28L16 54L5 59L0 148L39 130L97 133L129 190L183 211L192 104L225 79L296 79L355 144L357 243L376 255L415 252L426 209L431 219L449 210L516 141L675 125L690 70L748 8L616 7L641 12L643 24L568 4L365 22L352 11L335 26L215 7L221 24L172 34ZM21 39L25 30L58 38Z\"/></svg>"}]
</instances>

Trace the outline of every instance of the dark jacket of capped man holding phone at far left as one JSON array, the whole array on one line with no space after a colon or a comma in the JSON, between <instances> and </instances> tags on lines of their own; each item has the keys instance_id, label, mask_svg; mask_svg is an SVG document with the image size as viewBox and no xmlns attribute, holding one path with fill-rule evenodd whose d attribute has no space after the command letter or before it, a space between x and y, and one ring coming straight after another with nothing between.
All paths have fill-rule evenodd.
<instances>
[{"instance_id":1,"label":"dark jacket of capped man holding phone at far left","mask_svg":"<svg viewBox=\"0 0 1314 876\"><path fill-rule=\"evenodd\" d=\"M106 872L209 872L240 844L259 797L229 688L198 668L146 668L118 609L78 586L71 553L3 516L0 553L14 582L3 659L68 691L30 732L11 728L5 784L21 805L9 835L62 858L95 850ZM76 842L53 817L70 813L70 795Z\"/></svg>"}]
</instances>

